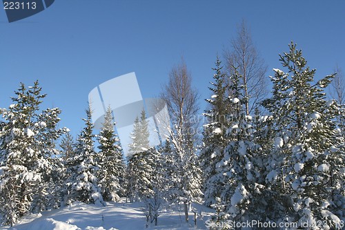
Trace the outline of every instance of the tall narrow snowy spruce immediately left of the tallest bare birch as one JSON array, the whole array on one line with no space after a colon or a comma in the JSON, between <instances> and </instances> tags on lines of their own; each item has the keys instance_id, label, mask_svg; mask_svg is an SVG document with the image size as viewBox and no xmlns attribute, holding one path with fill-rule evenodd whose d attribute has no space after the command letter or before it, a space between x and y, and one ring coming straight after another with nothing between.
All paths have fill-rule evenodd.
<instances>
[{"instance_id":1,"label":"tall narrow snowy spruce immediately left of the tallest bare birch","mask_svg":"<svg viewBox=\"0 0 345 230\"><path fill-rule=\"evenodd\" d=\"M210 99L206 99L209 109L203 114L206 118L204 124L204 148L201 150L199 160L201 170L204 173L204 198L206 206L215 204L215 198L219 196L222 184L215 183L216 172L215 165L224 157L224 148L227 144L226 129L228 121L226 116L230 113L230 102L227 96L226 75L222 73L223 66L219 57L215 62L215 74L213 82L208 87L212 92Z\"/></svg>"}]
</instances>

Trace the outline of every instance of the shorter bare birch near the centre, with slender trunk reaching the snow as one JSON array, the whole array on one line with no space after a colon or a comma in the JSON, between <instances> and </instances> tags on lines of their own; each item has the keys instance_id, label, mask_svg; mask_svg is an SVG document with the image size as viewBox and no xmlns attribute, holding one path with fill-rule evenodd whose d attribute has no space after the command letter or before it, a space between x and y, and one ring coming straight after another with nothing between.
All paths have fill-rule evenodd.
<instances>
[{"instance_id":1,"label":"shorter bare birch near the centre, with slender trunk reaching the snow","mask_svg":"<svg viewBox=\"0 0 345 230\"><path fill-rule=\"evenodd\" d=\"M169 178L172 202L184 204L185 220L188 222L188 206L199 202L201 192L201 170L195 154L197 140L197 112L199 97L192 86L192 77L184 59L172 68L168 83L161 98L166 101L170 122L171 175Z\"/></svg>"}]
</instances>

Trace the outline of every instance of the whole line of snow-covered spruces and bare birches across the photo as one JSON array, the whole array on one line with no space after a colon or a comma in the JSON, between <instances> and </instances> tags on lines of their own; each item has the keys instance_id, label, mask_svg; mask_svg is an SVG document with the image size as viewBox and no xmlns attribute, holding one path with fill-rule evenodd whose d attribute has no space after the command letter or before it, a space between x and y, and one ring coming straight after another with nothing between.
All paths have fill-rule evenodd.
<instances>
[{"instance_id":1,"label":"whole line of snow-covered spruces and bare birches across the photo","mask_svg":"<svg viewBox=\"0 0 345 230\"><path fill-rule=\"evenodd\" d=\"M205 122L199 123L199 95L182 60L160 95L170 115L167 140L150 146L143 111L135 120L126 160L111 108L97 135L88 108L75 141L67 128L58 128L59 108L41 111L46 95L39 83L21 84L13 104L0 109L3 223L75 201L106 205L126 197L143 202L147 226L157 224L162 204L181 205L189 222L190 205L202 202L215 209L215 223L308 222L308 229L317 229L317 221L324 221L322 229L341 229L342 75L315 82L316 70L306 65L293 42L279 60L286 71L273 69L267 98L266 66L242 24L224 61L216 58ZM334 99L327 97L328 86L335 88ZM201 125L202 135L195 132Z\"/></svg>"}]
</instances>

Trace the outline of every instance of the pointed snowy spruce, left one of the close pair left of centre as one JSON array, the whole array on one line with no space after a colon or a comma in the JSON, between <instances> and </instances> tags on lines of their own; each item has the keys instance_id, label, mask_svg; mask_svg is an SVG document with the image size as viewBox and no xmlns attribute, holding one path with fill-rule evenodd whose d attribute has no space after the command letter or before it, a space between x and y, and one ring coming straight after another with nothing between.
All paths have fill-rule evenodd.
<instances>
[{"instance_id":1,"label":"pointed snowy spruce, left one of the close pair left of centre","mask_svg":"<svg viewBox=\"0 0 345 230\"><path fill-rule=\"evenodd\" d=\"M101 189L98 186L99 165L95 160L95 135L92 134L91 108L86 109L85 127L77 138L76 152L66 161L68 179L66 180L65 203L81 201L86 204L103 204Z\"/></svg>"}]
</instances>

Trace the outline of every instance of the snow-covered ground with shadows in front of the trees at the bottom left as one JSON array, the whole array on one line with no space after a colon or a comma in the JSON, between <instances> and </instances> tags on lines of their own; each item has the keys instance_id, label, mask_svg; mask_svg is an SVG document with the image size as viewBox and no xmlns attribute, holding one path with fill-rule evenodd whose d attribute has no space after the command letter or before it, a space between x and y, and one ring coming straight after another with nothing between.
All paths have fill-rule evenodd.
<instances>
[{"instance_id":1,"label":"snow-covered ground with shadows in front of the trees at the bottom left","mask_svg":"<svg viewBox=\"0 0 345 230\"><path fill-rule=\"evenodd\" d=\"M108 202L106 207L95 204L74 202L68 207L32 214L21 218L14 227L3 227L7 230L135 230L146 229L146 221L142 204ZM193 209L201 214L197 218L196 229L207 229L205 222L210 218L212 209L200 204L193 204ZM183 209L161 211L158 225L148 229L195 229L194 213L190 212L189 224L184 223ZM154 225L154 224L152 224Z\"/></svg>"}]
</instances>

